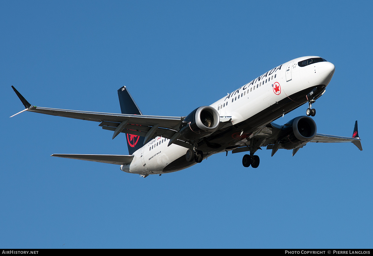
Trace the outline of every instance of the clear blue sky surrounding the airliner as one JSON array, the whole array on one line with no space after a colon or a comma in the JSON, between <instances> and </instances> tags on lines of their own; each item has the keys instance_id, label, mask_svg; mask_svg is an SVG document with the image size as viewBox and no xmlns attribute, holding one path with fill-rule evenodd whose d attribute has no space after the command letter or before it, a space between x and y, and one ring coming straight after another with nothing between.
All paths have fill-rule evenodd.
<instances>
[{"instance_id":1,"label":"clear blue sky surrounding the airliner","mask_svg":"<svg viewBox=\"0 0 373 256\"><path fill-rule=\"evenodd\" d=\"M1 248L372 248L370 1L1 1ZM243 153L140 178L50 157L127 154L98 123L23 109L185 116L288 60L336 66L308 143L244 168ZM305 115L307 106L279 118Z\"/></svg>"}]
</instances>

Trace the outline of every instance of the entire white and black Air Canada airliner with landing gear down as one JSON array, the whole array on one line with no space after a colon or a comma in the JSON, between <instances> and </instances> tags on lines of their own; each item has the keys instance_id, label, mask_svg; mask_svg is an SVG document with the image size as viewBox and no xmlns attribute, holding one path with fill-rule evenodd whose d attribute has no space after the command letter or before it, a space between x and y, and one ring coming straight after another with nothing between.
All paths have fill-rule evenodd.
<instances>
[{"instance_id":1,"label":"entire white and black Air Canada airliner with landing gear down","mask_svg":"<svg viewBox=\"0 0 373 256\"><path fill-rule=\"evenodd\" d=\"M363 150L357 121L352 137L316 133L316 123L311 118L316 110L312 104L325 93L334 70L335 66L321 57L293 59L210 106L200 106L189 115L177 117L143 115L125 86L118 90L122 114L32 106L12 88L25 106L21 112L100 122L103 129L114 132L113 139L120 133L126 134L129 155L51 156L120 165L120 170L145 178L188 168L220 152L248 152L242 157L242 165L257 168L259 157L255 152L261 147L272 150L271 156L278 149L292 150L294 156L308 142L352 142ZM298 116L284 125L273 123L305 103L306 116Z\"/></svg>"}]
</instances>

